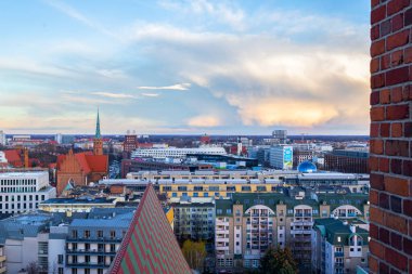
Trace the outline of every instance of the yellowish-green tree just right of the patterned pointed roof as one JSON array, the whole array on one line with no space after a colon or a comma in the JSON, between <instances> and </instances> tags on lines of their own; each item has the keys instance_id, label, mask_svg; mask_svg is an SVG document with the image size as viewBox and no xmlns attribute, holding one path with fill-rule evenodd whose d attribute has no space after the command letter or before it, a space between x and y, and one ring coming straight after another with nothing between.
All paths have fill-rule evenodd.
<instances>
[{"instance_id":1,"label":"yellowish-green tree just right of the patterned pointed roof","mask_svg":"<svg viewBox=\"0 0 412 274\"><path fill-rule=\"evenodd\" d=\"M204 242L184 240L182 253L192 270L202 270L207 256Z\"/></svg>"}]
</instances>

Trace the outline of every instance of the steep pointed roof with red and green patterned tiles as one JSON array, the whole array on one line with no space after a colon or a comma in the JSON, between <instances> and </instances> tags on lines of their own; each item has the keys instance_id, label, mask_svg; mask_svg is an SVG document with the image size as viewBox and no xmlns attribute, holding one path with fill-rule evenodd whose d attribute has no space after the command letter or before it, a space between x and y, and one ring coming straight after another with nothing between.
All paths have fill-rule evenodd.
<instances>
[{"instance_id":1,"label":"steep pointed roof with red and green patterned tiles","mask_svg":"<svg viewBox=\"0 0 412 274\"><path fill-rule=\"evenodd\" d=\"M108 273L191 273L151 184Z\"/></svg>"}]
</instances>

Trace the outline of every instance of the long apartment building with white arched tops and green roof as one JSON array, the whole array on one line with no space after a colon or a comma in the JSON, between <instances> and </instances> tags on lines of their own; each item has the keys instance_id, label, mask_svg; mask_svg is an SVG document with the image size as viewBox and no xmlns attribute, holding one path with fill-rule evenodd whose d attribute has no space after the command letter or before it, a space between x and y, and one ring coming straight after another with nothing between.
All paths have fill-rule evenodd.
<instances>
[{"instance_id":1,"label":"long apartment building with white arched tops and green roof","mask_svg":"<svg viewBox=\"0 0 412 274\"><path fill-rule=\"evenodd\" d=\"M291 247L305 271L311 266L311 230L316 219L369 218L368 194L233 194L216 200L218 271L256 269L269 246Z\"/></svg>"}]
</instances>

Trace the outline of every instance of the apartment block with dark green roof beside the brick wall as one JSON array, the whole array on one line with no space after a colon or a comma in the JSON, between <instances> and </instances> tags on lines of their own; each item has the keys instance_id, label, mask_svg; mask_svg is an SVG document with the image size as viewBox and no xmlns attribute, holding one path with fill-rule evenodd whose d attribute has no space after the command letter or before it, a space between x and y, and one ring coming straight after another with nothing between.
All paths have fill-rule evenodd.
<instances>
[{"instance_id":1,"label":"apartment block with dark green roof beside the brick wall","mask_svg":"<svg viewBox=\"0 0 412 274\"><path fill-rule=\"evenodd\" d=\"M355 274L368 266L369 224L359 220L318 219L312 229L312 273Z\"/></svg>"}]
</instances>

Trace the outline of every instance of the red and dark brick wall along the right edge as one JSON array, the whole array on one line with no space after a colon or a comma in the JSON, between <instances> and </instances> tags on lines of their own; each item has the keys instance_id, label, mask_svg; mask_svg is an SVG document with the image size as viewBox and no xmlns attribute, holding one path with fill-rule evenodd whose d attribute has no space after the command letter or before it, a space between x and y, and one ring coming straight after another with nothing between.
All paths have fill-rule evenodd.
<instances>
[{"instance_id":1,"label":"red and dark brick wall along the right edge","mask_svg":"<svg viewBox=\"0 0 412 274\"><path fill-rule=\"evenodd\" d=\"M412 273L412 0L371 1L371 273Z\"/></svg>"}]
</instances>

